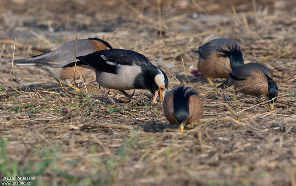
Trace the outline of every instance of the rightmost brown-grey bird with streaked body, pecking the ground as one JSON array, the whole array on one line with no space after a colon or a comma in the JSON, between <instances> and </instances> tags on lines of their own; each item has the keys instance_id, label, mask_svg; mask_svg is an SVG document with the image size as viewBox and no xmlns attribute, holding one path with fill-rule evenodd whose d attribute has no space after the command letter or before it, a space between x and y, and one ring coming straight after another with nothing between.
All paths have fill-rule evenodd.
<instances>
[{"instance_id":1,"label":"rightmost brown-grey bird with streaked body, pecking the ground","mask_svg":"<svg viewBox=\"0 0 296 186\"><path fill-rule=\"evenodd\" d=\"M224 85L234 85L236 93L257 96L258 99L262 95L269 101L270 108L274 108L275 97L279 95L279 90L272 80L273 73L268 67L259 63L247 63L228 74L230 78L217 88L224 89ZM275 99L271 101L273 98Z\"/></svg>"}]
</instances>

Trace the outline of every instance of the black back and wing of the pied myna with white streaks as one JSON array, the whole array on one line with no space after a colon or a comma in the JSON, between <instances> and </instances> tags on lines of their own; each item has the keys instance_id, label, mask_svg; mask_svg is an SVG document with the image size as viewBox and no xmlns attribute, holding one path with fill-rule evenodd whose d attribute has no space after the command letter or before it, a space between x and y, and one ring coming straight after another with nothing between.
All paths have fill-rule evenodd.
<instances>
[{"instance_id":1,"label":"black back and wing of the pied myna with white streaks","mask_svg":"<svg viewBox=\"0 0 296 186\"><path fill-rule=\"evenodd\" d=\"M86 64L93 69L104 71L112 74L118 73L118 68L123 65L136 65L136 66L154 66L149 60L142 54L132 50L123 49L110 49L101 50L94 53L77 57L78 64ZM64 67L74 66L74 63L70 63Z\"/></svg>"}]
</instances>

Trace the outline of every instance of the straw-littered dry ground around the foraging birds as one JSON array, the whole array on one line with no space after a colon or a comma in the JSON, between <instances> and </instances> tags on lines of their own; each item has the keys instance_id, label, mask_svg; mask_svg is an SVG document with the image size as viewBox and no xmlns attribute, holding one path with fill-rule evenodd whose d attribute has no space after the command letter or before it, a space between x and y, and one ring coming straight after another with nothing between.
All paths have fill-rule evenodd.
<instances>
[{"instance_id":1,"label":"straw-littered dry ground around the foraging birds","mask_svg":"<svg viewBox=\"0 0 296 186\"><path fill-rule=\"evenodd\" d=\"M295 186L296 76L285 81L296 70L295 1L128 2L0 1L1 177L33 176L34 185ZM50 41L54 49L78 32L80 39L106 39L114 48L147 56L168 75L169 90L194 87L204 118L185 134L163 132L176 127L142 95L147 91L136 90L141 101L135 104L110 90L119 101L112 106L94 74L80 85L83 95L70 89L73 95L33 66L14 66L5 92L15 37L18 59L49 50ZM221 80L209 85L190 74L198 57L191 50L218 37L236 40L246 63L274 71L275 110L254 106L252 97L225 102L215 88Z\"/></svg>"}]
</instances>

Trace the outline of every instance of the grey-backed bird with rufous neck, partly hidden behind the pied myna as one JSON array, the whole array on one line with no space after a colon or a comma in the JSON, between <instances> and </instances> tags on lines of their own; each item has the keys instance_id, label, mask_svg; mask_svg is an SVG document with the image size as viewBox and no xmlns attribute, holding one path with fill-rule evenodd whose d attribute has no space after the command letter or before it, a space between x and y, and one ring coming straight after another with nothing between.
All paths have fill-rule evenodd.
<instances>
[{"instance_id":1,"label":"grey-backed bird with rufous neck, partly hidden behind the pied myna","mask_svg":"<svg viewBox=\"0 0 296 186\"><path fill-rule=\"evenodd\" d=\"M72 40L66 42L56 50L52 50L52 56L50 55L49 51L40 55L35 55L28 59L14 60L14 64L37 66L41 69L48 71L49 74L59 82L57 77L58 74L60 80L64 80L67 85L69 85L70 87L74 87L73 85L71 85L71 82L73 81L74 67L67 69L62 69L61 67L73 62L73 60L75 59L75 46L76 40ZM86 55L98 50L107 49L112 49L112 47L109 43L103 41L102 39L77 39L76 56ZM54 63L52 61L54 61ZM54 66L56 67L57 72L55 71ZM81 75L89 74L91 72L91 70L81 67L76 67L75 71L77 70L80 72ZM79 73L76 72L75 78L79 77Z\"/></svg>"}]
</instances>

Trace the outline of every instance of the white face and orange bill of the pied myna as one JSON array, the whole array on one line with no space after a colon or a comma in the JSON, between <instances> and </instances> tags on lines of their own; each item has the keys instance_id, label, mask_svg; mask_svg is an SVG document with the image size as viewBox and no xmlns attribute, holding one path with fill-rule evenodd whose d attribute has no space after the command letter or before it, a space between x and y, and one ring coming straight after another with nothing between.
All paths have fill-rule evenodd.
<instances>
[{"instance_id":1,"label":"white face and orange bill of the pied myna","mask_svg":"<svg viewBox=\"0 0 296 186\"><path fill-rule=\"evenodd\" d=\"M154 82L156 86L153 86L154 89L150 90L150 92L154 94L152 104L154 104L157 98L157 95L159 96L160 104L161 104L161 101L165 97L165 94L168 90L168 77L166 76L163 70L161 69L158 69L158 70L159 70L159 74L156 74L154 77Z\"/></svg>"}]
</instances>

